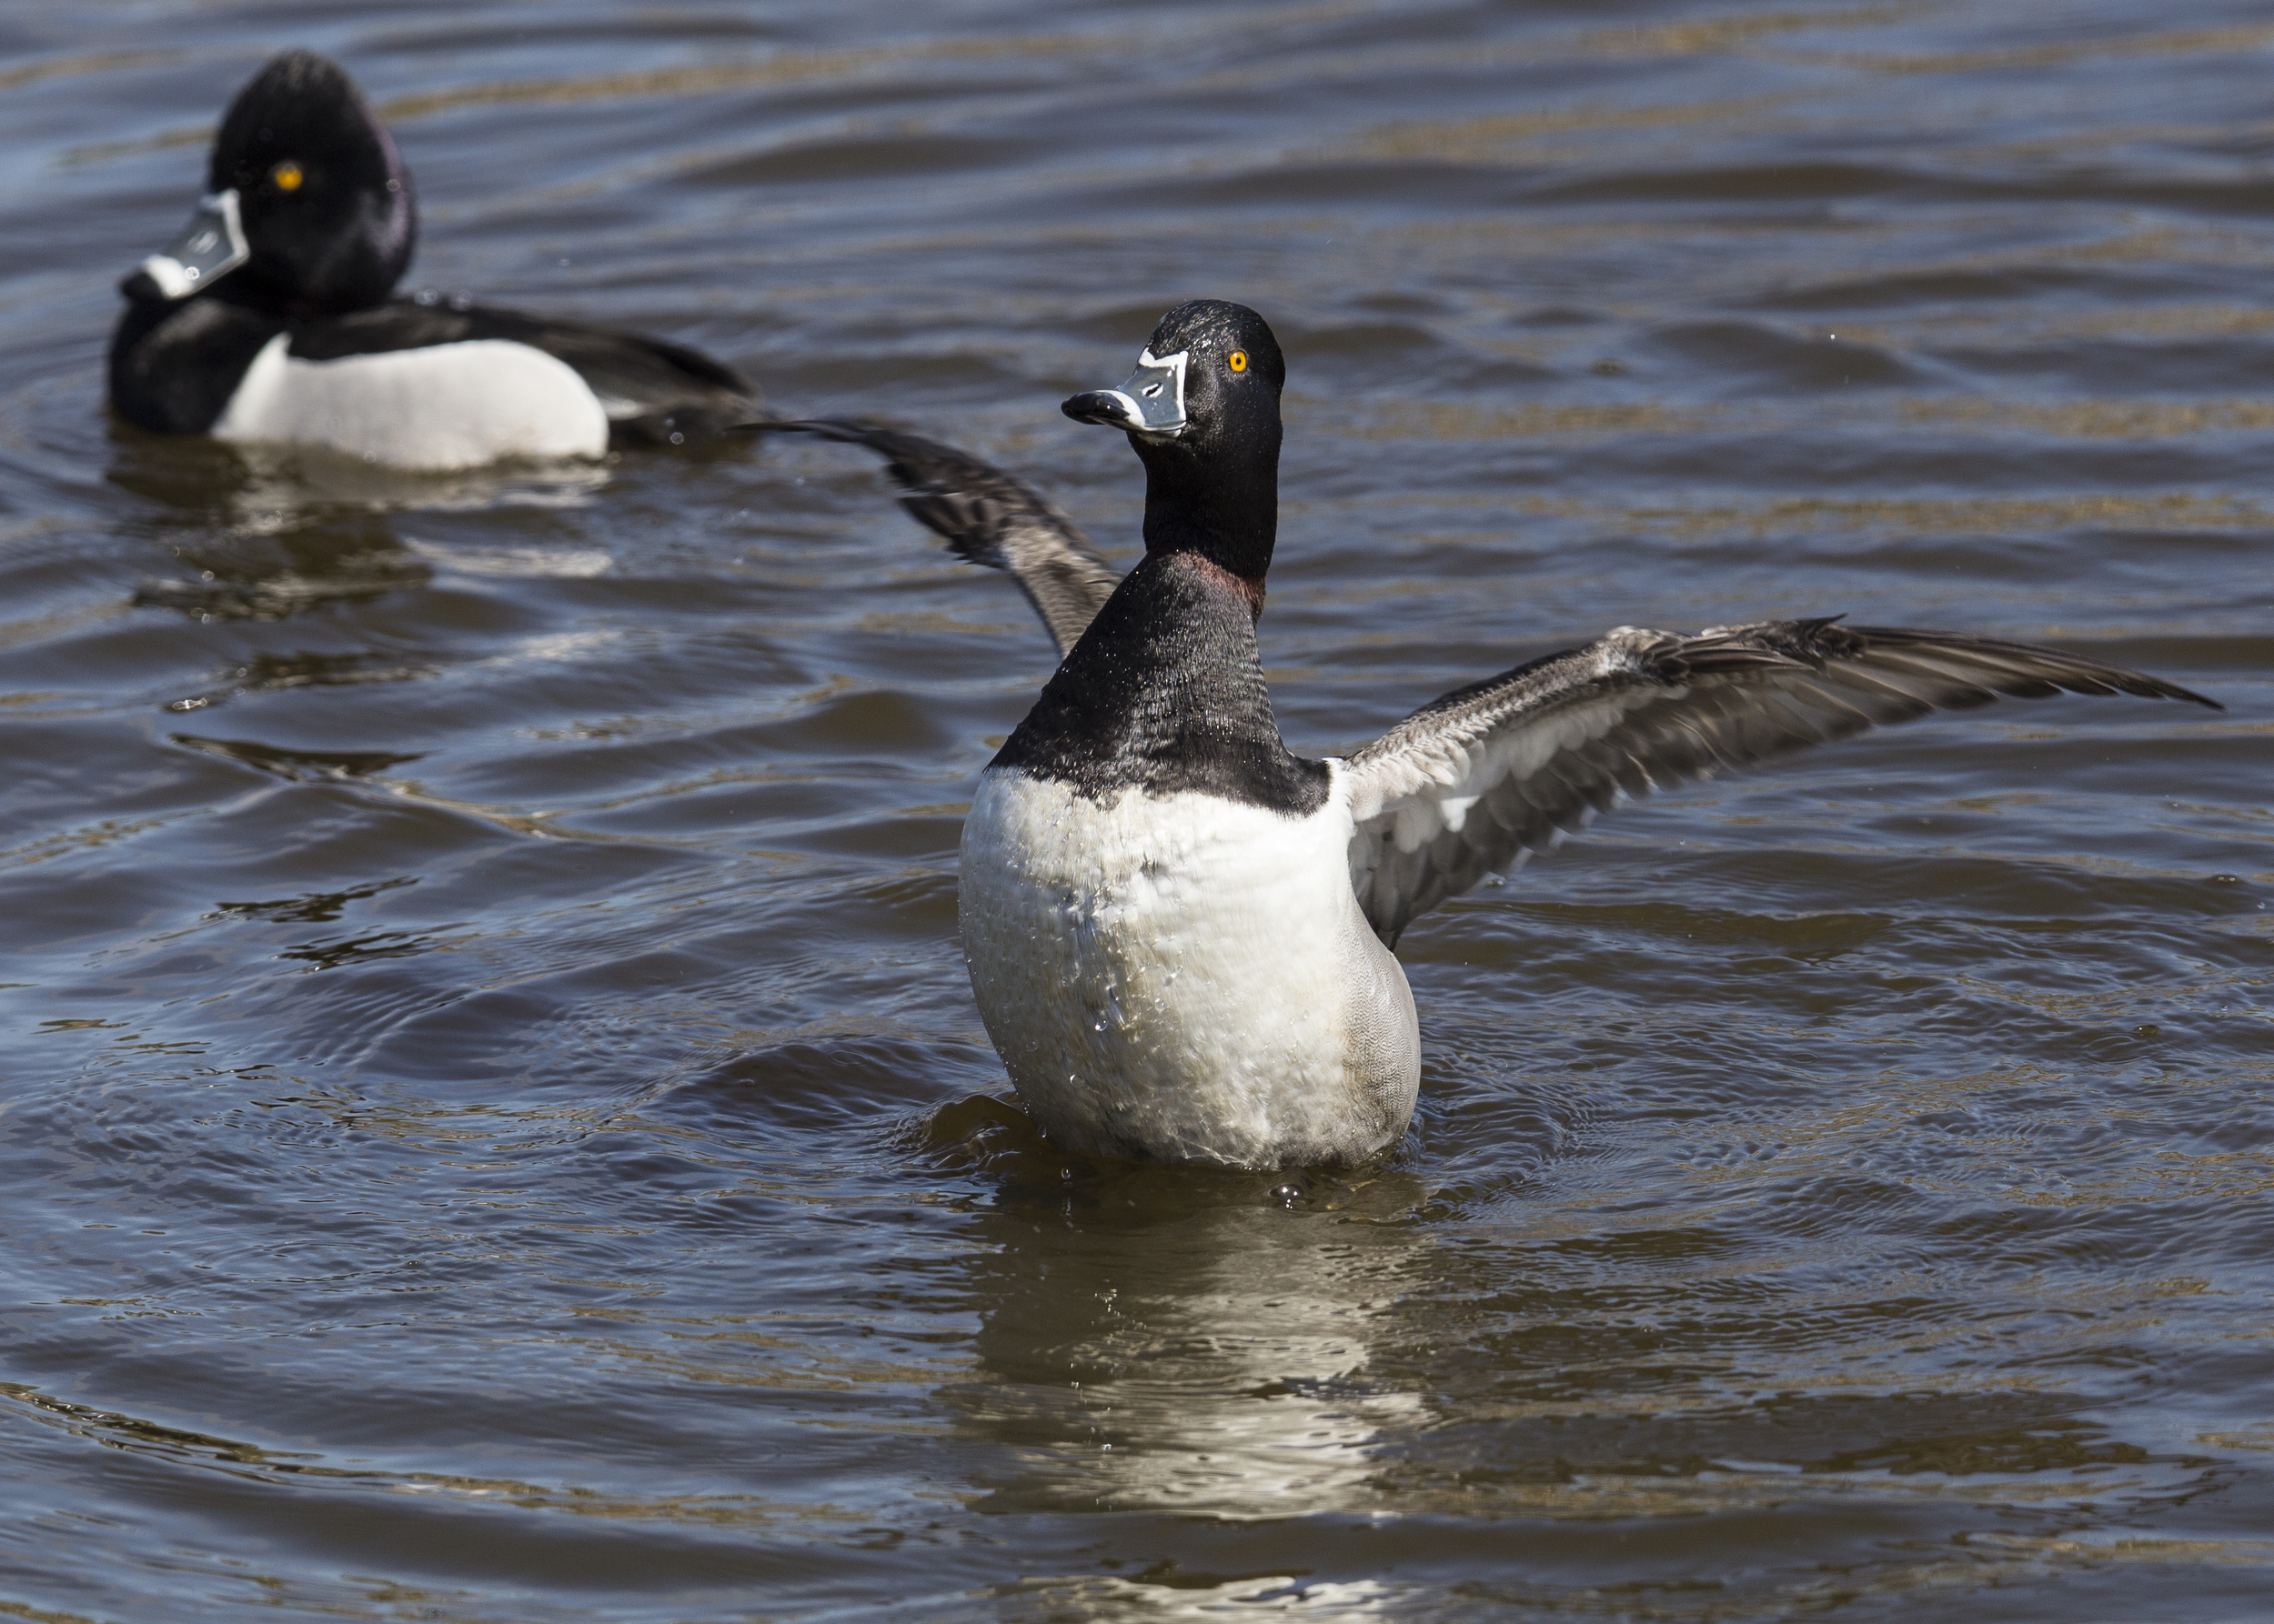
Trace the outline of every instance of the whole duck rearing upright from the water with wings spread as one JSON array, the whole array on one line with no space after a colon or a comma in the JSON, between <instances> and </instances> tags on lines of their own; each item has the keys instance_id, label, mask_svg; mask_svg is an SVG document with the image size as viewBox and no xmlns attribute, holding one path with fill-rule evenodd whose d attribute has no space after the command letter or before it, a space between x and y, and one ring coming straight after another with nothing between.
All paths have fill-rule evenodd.
<instances>
[{"instance_id":1,"label":"whole duck rearing upright from the water with wings spread","mask_svg":"<svg viewBox=\"0 0 2274 1624\"><path fill-rule=\"evenodd\" d=\"M1383 1153L1421 1071L1399 933L1621 798L1999 694L2217 710L1960 632L1621 625L1305 760L1255 648L1285 375L1262 316L1196 300L1162 316L1126 384L1064 403L1123 430L1146 471L1146 550L1119 580L1064 514L951 446L782 425L885 453L910 509L1010 571L1064 655L980 773L960 914L987 1035L1069 1149L1233 1167Z\"/></svg>"}]
</instances>

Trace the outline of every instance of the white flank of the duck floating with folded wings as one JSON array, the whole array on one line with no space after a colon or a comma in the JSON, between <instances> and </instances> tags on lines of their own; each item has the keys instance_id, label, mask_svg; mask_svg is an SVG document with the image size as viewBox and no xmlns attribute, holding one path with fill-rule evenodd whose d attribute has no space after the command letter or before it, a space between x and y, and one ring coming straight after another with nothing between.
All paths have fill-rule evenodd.
<instances>
[{"instance_id":1,"label":"white flank of the duck floating with folded wings","mask_svg":"<svg viewBox=\"0 0 2274 1624\"><path fill-rule=\"evenodd\" d=\"M302 362L277 334L246 368L214 439L327 446L396 469L498 457L598 457L607 412L566 362L505 339Z\"/></svg>"}]
</instances>

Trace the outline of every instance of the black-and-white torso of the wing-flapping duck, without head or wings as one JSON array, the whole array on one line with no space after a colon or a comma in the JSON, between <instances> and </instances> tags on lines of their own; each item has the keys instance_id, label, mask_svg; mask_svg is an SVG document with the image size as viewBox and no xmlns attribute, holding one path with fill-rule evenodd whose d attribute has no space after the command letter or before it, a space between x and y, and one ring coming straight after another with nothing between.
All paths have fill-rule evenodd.
<instances>
[{"instance_id":1,"label":"black-and-white torso of the wing-flapping duck, without head or wings","mask_svg":"<svg viewBox=\"0 0 2274 1624\"><path fill-rule=\"evenodd\" d=\"M1189 553L1139 564L964 821L971 987L1037 1121L1242 1165L1396 1140L1421 1049L1353 832L1346 776L1271 723L1237 582Z\"/></svg>"}]
</instances>

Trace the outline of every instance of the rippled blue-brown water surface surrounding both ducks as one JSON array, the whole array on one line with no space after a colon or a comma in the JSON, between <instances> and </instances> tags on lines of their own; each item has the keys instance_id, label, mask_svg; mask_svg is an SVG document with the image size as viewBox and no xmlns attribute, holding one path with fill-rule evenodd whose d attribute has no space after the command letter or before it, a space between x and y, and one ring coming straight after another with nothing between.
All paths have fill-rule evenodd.
<instances>
[{"instance_id":1,"label":"rippled blue-brown water surface surrounding both ducks","mask_svg":"<svg viewBox=\"0 0 2274 1624\"><path fill-rule=\"evenodd\" d=\"M862 455L107 423L287 43L414 284L1123 560L1057 400L1260 307L1296 748L1808 612L2229 710L1633 807L1408 933L1387 1165L1069 1162L955 937L1048 641ZM0 155L0 1615L2267 1617L2263 5L18 5Z\"/></svg>"}]
</instances>

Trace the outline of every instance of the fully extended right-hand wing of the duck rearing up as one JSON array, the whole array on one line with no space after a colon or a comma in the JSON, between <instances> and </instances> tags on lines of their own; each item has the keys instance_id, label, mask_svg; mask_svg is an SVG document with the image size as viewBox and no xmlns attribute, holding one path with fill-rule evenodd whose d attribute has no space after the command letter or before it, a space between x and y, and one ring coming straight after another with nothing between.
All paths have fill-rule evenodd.
<instances>
[{"instance_id":1,"label":"fully extended right-hand wing of the duck rearing up","mask_svg":"<svg viewBox=\"0 0 2274 1624\"><path fill-rule=\"evenodd\" d=\"M1633 625L1437 698L1351 755L1351 883L1383 942L1596 812L1999 694L2217 701L2097 660L1958 632Z\"/></svg>"}]
</instances>

